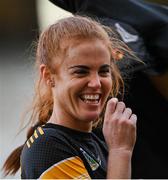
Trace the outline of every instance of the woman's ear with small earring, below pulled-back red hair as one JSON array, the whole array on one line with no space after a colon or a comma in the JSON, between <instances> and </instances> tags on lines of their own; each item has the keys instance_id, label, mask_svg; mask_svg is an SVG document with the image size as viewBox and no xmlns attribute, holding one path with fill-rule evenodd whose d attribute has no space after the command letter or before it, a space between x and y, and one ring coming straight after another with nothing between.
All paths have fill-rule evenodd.
<instances>
[{"instance_id":1,"label":"woman's ear with small earring, below pulled-back red hair","mask_svg":"<svg viewBox=\"0 0 168 180\"><path fill-rule=\"evenodd\" d=\"M40 75L47 86L55 86L53 75L45 64L40 65Z\"/></svg>"}]
</instances>

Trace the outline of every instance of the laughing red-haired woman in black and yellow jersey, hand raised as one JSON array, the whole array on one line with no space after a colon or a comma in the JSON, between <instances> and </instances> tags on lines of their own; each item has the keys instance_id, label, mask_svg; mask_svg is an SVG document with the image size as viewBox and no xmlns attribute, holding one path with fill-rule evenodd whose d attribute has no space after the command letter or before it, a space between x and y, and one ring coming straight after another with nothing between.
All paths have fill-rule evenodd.
<instances>
[{"instance_id":1,"label":"laughing red-haired woman in black and yellow jersey, hand raised","mask_svg":"<svg viewBox=\"0 0 168 180\"><path fill-rule=\"evenodd\" d=\"M6 174L21 166L26 179L131 177L137 117L109 97L123 86L115 60L132 53L105 29L76 16L41 34L36 57L40 78L31 119L38 121L24 146L7 159ZM106 144L92 133L102 117ZM21 164L14 164L20 154Z\"/></svg>"}]
</instances>

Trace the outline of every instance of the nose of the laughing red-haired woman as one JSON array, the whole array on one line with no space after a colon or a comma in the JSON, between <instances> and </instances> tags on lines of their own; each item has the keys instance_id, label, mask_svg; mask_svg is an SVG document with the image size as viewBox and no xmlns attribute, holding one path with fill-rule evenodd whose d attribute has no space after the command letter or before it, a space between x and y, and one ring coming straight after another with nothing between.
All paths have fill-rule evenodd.
<instances>
[{"instance_id":1,"label":"nose of the laughing red-haired woman","mask_svg":"<svg viewBox=\"0 0 168 180\"><path fill-rule=\"evenodd\" d=\"M94 74L90 76L89 82L88 82L88 87L98 89L101 87L101 79L98 74Z\"/></svg>"}]
</instances>

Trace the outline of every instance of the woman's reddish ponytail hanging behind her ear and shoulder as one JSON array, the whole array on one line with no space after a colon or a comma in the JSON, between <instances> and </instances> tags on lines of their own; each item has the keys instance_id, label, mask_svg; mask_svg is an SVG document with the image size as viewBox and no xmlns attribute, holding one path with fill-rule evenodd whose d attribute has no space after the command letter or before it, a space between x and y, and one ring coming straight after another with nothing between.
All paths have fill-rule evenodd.
<instances>
[{"instance_id":1,"label":"woman's reddish ponytail hanging behind her ear and shoulder","mask_svg":"<svg viewBox=\"0 0 168 180\"><path fill-rule=\"evenodd\" d=\"M51 89L46 88L43 86L41 78L37 81L36 89L35 89L35 96L32 103L32 114L30 117L30 123L35 125L31 126L27 131L27 139L29 139L34 130L43 124L45 124L51 114L53 109L53 99L52 99L52 92ZM24 144L16 148L9 157L6 159L2 170L4 172L4 176L7 175L14 175L20 168L20 156L23 150Z\"/></svg>"}]
</instances>

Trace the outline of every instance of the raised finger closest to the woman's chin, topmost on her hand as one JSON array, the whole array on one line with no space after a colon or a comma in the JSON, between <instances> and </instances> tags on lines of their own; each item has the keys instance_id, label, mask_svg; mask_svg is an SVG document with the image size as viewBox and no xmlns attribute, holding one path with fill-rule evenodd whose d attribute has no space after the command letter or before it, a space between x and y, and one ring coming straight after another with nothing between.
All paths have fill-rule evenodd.
<instances>
[{"instance_id":1,"label":"raised finger closest to the woman's chin, topmost on her hand","mask_svg":"<svg viewBox=\"0 0 168 180\"><path fill-rule=\"evenodd\" d=\"M117 98L111 98L107 102L106 111L105 111L105 120L109 119L111 117L111 114L114 113L116 109L118 99Z\"/></svg>"}]
</instances>

